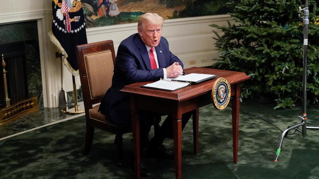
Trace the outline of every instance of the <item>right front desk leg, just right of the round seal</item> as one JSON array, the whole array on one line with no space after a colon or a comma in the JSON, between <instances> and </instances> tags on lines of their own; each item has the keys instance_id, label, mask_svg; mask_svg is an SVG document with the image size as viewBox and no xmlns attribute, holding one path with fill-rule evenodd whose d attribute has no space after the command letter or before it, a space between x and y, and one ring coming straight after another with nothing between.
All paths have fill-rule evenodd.
<instances>
[{"instance_id":1,"label":"right front desk leg, just right of the round seal","mask_svg":"<svg viewBox=\"0 0 319 179\"><path fill-rule=\"evenodd\" d=\"M231 113L232 113L232 123L233 123L233 160L237 164L238 160L238 126L239 126L239 97L240 97L240 84L236 84L235 95L231 101Z\"/></svg>"}]
</instances>

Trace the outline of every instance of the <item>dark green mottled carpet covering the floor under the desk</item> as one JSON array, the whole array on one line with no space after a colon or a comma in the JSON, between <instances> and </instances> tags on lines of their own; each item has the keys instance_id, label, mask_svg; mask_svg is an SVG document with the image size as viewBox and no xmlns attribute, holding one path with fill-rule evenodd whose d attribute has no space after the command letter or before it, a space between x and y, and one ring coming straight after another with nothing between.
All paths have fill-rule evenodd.
<instances>
[{"instance_id":1,"label":"dark green mottled carpet covering the floor under the desk","mask_svg":"<svg viewBox=\"0 0 319 179\"><path fill-rule=\"evenodd\" d=\"M199 154L193 154L191 121L182 135L183 179L319 179L319 131L307 130L306 139L299 132L289 135L279 162L273 162L281 131L264 120L284 130L299 123L302 112L273 107L261 99L241 103L238 164L232 163L231 109L200 108ZM318 106L308 108L308 125L319 126L318 114ZM0 141L0 179L133 179L131 138L124 135L126 160L119 168L114 135L99 129L91 153L82 155L84 116L24 133ZM165 145L172 149L172 140ZM173 160L149 158L146 163L151 179L175 176Z\"/></svg>"}]
</instances>

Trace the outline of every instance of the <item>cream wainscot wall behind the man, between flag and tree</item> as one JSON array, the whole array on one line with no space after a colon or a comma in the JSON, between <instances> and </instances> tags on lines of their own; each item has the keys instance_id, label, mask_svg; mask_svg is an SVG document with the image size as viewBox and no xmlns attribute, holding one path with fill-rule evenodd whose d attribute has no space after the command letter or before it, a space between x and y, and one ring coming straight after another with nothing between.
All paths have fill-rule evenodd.
<instances>
[{"instance_id":1,"label":"cream wainscot wall behind the man, between flag and tree","mask_svg":"<svg viewBox=\"0 0 319 179\"><path fill-rule=\"evenodd\" d=\"M227 25L227 20L231 20L229 15L167 19L163 25L162 36L168 40L170 51L181 59L185 68L210 66L213 58L218 55L213 45L214 28L209 25ZM137 23L111 25L88 28L87 38L88 43L113 40L117 51L120 42L136 32Z\"/></svg>"}]
</instances>

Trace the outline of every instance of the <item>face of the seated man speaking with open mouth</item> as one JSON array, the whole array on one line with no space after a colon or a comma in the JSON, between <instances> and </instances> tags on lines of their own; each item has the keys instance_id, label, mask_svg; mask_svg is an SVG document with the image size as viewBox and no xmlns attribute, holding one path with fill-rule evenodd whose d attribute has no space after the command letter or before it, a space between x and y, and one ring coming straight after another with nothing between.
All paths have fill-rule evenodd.
<instances>
[{"instance_id":1,"label":"face of the seated man speaking with open mouth","mask_svg":"<svg viewBox=\"0 0 319 179\"><path fill-rule=\"evenodd\" d=\"M145 45L156 47L160 43L161 24L151 24L145 22L142 29L139 29L139 34Z\"/></svg>"}]
</instances>

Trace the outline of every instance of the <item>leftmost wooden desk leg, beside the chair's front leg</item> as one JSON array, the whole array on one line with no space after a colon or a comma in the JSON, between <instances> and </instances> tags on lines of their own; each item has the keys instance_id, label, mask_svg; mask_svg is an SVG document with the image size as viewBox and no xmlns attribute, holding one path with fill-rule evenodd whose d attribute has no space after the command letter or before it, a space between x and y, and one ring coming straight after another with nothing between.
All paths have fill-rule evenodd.
<instances>
[{"instance_id":1,"label":"leftmost wooden desk leg, beside the chair's front leg","mask_svg":"<svg viewBox=\"0 0 319 179\"><path fill-rule=\"evenodd\" d=\"M132 119L132 133L133 133L134 172L135 172L136 179L140 179L141 178L140 117L138 114L132 112L131 119Z\"/></svg>"}]
</instances>

